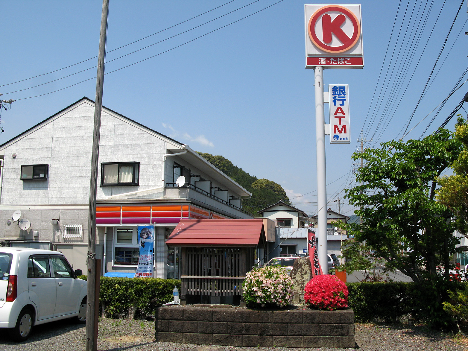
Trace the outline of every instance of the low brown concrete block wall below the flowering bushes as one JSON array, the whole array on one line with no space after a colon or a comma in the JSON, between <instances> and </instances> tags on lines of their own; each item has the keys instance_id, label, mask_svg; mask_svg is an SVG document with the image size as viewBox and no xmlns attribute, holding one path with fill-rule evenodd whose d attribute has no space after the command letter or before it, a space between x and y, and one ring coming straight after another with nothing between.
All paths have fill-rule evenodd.
<instances>
[{"instance_id":1,"label":"low brown concrete block wall below the flowering bushes","mask_svg":"<svg viewBox=\"0 0 468 351\"><path fill-rule=\"evenodd\" d=\"M156 341L263 347L354 348L354 312L164 306Z\"/></svg>"}]
</instances>

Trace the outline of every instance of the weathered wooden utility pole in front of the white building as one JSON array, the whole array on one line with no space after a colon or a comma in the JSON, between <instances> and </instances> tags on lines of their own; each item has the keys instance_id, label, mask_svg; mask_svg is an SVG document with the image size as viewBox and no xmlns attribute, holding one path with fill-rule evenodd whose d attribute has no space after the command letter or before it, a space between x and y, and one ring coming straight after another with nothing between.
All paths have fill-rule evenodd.
<instances>
[{"instance_id":1,"label":"weathered wooden utility pole in front of the white building","mask_svg":"<svg viewBox=\"0 0 468 351\"><path fill-rule=\"evenodd\" d=\"M94 108L93 149L91 156L91 180L89 183L88 212L88 292L86 310L86 351L97 351L97 313L99 292L96 293L96 189L99 137L101 134L102 90L104 86L104 61L106 53L107 16L109 0L102 0L101 36L99 38L99 56L97 59L96 102ZM105 262L103 263L105 264ZM97 300L96 300L97 298Z\"/></svg>"}]
</instances>

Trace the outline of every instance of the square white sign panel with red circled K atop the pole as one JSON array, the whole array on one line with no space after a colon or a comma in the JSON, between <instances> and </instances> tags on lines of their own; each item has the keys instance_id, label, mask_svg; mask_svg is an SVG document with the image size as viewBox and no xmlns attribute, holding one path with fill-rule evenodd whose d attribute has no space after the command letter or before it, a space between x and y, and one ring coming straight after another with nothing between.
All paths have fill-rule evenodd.
<instances>
[{"instance_id":1,"label":"square white sign panel with red circled K atop the pole","mask_svg":"<svg viewBox=\"0 0 468 351\"><path fill-rule=\"evenodd\" d=\"M307 57L362 57L360 5L305 5L305 15Z\"/></svg>"}]
</instances>

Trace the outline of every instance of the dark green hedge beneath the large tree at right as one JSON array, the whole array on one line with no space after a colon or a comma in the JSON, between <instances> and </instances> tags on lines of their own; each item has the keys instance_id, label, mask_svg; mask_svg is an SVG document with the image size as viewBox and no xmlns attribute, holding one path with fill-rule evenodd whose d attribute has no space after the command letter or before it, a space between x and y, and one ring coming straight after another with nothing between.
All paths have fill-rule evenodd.
<instances>
[{"instance_id":1,"label":"dark green hedge beneath the large tree at right","mask_svg":"<svg viewBox=\"0 0 468 351\"><path fill-rule=\"evenodd\" d=\"M412 317L433 325L444 325L451 318L442 308L449 290L464 289L467 283L347 283L348 305L358 322L399 322ZM441 301L438 301L438 298Z\"/></svg>"}]
</instances>

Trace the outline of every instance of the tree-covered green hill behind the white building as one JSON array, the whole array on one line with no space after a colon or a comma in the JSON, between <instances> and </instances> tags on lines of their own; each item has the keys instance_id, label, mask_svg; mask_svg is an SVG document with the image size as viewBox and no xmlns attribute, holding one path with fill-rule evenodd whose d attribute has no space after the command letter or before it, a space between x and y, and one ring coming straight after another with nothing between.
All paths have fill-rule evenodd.
<instances>
[{"instance_id":1,"label":"tree-covered green hill behind the white building","mask_svg":"<svg viewBox=\"0 0 468 351\"><path fill-rule=\"evenodd\" d=\"M206 153L198 154L252 193L251 198L242 200L242 208L245 211L252 212L255 217L260 217L257 211L278 202L280 199L286 204L290 204L289 197L287 197L281 185L265 178L257 179L256 176L250 176L249 173L234 166L231 161L223 156L213 156Z\"/></svg>"}]
</instances>

